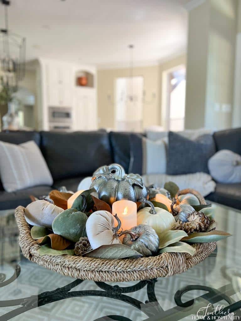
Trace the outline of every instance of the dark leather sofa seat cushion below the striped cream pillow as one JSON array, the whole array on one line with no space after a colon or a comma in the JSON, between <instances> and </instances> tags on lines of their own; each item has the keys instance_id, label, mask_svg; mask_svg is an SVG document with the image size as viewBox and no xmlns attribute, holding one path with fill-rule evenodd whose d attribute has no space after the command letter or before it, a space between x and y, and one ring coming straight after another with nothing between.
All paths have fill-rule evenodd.
<instances>
[{"instance_id":1,"label":"dark leather sofa seat cushion below the striped cream pillow","mask_svg":"<svg viewBox=\"0 0 241 321\"><path fill-rule=\"evenodd\" d=\"M15 209L19 205L26 207L31 203L30 195L35 197L42 197L49 194L52 190L49 186L37 186L22 189L16 192L0 192L0 210Z\"/></svg>"}]
</instances>

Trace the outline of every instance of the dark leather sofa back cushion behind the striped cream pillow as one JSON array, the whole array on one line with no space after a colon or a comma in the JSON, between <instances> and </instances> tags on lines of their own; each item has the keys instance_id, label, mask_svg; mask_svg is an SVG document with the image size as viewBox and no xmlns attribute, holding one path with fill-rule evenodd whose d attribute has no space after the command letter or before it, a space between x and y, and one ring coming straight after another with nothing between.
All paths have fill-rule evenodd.
<instances>
[{"instance_id":1,"label":"dark leather sofa back cushion behind the striped cream pillow","mask_svg":"<svg viewBox=\"0 0 241 321\"><path fill-rule=\"evenodd\" d=\"M22 144L31 140L33 140L38 146L40 146L40 133L35 131L0 132L0 141L5 143ZM1 179L0 190L4 190Z\"/></svg>"}]
</instances>

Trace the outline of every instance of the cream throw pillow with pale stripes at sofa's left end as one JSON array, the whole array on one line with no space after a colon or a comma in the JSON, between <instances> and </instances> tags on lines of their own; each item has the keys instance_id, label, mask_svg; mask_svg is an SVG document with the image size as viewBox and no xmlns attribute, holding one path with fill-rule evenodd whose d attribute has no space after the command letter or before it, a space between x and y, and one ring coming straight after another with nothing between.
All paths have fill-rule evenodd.
<instances>
[{"instance_id":1,"label":"cream throw pillow with pale stripes at sofa's left end","mask_svg":"<svg viewBox=\"0 0 241 321\"><path fill-rule=\"evenodd\" d=\"M0 141L0 174L7 192L53 184L46 161L34 141L19 145Z\"/></svg>"}]
</instances>

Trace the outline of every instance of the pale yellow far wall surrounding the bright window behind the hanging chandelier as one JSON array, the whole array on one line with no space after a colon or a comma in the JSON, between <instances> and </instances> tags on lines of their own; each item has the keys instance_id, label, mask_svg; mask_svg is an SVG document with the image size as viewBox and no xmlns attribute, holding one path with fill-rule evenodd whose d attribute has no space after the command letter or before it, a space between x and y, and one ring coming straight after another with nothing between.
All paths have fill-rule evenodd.
<instances>
[{"instance_id":1,"label":"pale yellow far wall surrounding the bright window behind the hanging chandelier","mask_svg":"<svg viewBox=\"0 0 241 321\"><path fill-rule=\"evenodd\" d=\"M162 73L178 65L185 65L185 55L178 56L160 65L135 67L134 76L143 76L146 103L143 105L143 127L161 125ZM97 101L99 128L114 128L114 84L118 77L128 77L129 68L97 71ZM153 93L156 98L153 99ZM108 100L108 96L110 99ZM111 101L110 101L111 100Z\"/></svg>"}]
</instances>

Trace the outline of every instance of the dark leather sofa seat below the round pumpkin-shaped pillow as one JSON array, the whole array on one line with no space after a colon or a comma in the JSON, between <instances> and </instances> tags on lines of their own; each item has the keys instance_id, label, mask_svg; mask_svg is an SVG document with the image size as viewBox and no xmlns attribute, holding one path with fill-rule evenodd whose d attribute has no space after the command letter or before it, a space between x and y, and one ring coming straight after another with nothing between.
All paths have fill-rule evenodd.
<instances>
[{"instance_id":1,"label":"dark leather sofa seat below the round pumpkin-shaped pillow","mask_svg":"<svg viewBox=\"0 0 241 321\"><path fill-rule=\"evenodd\" d=\"M206 198L210 201L241 210L241 183L217 183L215 192L209 194Z\"/></svg>"}]
</instances>

